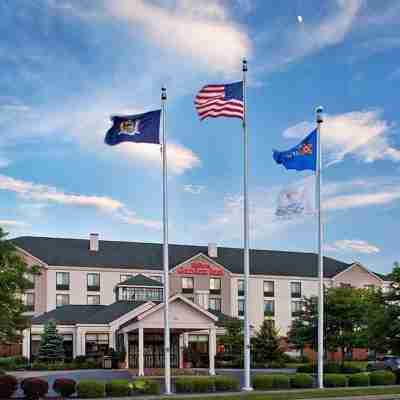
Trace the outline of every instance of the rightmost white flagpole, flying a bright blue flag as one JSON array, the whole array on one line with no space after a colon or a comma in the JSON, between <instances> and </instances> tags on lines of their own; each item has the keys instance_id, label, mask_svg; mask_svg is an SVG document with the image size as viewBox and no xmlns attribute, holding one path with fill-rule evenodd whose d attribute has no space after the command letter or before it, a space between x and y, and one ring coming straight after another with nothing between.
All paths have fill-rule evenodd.
<instances>
[{"instance_id":1,"label":"rightmost white flagpole, flying a bright blue flag","mask_svg":"<svg viewBox=\"0 0 400 400\"><path fill-rule=\"evenodd\" d=\"M316 109L317 122L317 206L318 206L318 387L324 387L324 254L321 210L322 146L321 124L323 108Z\"/></svg>"}]
</instances>

